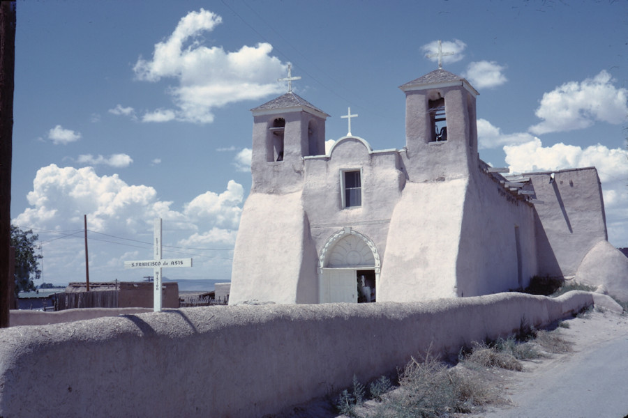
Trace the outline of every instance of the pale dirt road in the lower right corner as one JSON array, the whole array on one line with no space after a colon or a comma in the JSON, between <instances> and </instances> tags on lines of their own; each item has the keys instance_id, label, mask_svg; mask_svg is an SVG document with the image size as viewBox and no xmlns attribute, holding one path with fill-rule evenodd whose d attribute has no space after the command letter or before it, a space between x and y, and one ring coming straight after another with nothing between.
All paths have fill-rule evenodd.
<instances>
[{"instance_id":1,"label":"pale dirt road in the lower right corner","mask_svg":"<svg viewBox=\"0 0 628 418\"><path fill-rule=\"evenodd\" d=\"M511 405L469 418L622 418L628 416L628 316L592 312L560 328L573 351L524 362L508 373Z\"/></svg>"}]
</instances>

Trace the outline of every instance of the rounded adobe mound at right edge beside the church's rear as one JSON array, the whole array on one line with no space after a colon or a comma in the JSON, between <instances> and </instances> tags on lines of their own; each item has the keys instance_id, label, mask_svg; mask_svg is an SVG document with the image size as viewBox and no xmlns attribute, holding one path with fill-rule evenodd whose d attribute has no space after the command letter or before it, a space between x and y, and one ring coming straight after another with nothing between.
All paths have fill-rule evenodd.
<instances>
[{"instance_id":1,"label":"rounded adobe mound at right edge beside the church's rear","mask_svg":"<svg viewBox=\"0 0 628 418\"><path fill-rule=\"evenodd\" d=\"M610 242L600 241L584 257L575 280L603 285L609 295L628 302L628 257Z\"/></svg>"}]
</instances>

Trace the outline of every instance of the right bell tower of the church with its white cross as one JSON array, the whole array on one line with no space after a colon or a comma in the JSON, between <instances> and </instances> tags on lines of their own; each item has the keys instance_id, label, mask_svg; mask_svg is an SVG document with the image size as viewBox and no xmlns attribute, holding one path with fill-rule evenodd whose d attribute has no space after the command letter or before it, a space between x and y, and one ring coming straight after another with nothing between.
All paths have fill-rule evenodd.
<instances>
[{"instance_id":1,"label":"right bell tower of the church with its white cross","mask_svg":"<svg viewBox=\"0 0 628 418\"><path fill-rule=\"evenodd\" d=\"M405 93L405 162L411 181L435 181L468 176L476 169L477 123L475 99L479 93L458 75L442 68L438 43L438 70L399 86Z\"/></svg>"}]
</instances>

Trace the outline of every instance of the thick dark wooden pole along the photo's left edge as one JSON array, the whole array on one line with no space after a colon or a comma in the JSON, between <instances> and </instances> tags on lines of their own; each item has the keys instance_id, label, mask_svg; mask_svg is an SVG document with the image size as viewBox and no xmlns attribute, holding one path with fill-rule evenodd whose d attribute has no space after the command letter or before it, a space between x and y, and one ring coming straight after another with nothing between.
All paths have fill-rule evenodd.
<instances>
[{"instance_id":1,"label":"thick dark wooden pole along the photo's left edge","mask_svg":"<svg viewBox=\"0 0 628 418\"><path fill-rule=\"evenodd\" d=\"M0 328L9 326L15 1L0 2Z\"/></svg>"}]
</instances>

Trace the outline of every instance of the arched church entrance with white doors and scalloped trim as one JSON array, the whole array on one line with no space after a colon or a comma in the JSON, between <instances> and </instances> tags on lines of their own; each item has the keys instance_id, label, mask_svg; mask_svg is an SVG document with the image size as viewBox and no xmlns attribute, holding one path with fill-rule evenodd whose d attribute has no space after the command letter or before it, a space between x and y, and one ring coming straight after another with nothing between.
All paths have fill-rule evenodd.
<instances>
[{"instance_id":1,"label":"arched church entrance with white doors and scalloped trim","mask_svg":"<svg viewBox=\"0 0 628 418\"><path fill-rule=\"evenodd\" d=\"M380 255L371 239L352 228L331 235L319 256L319 302L375 302Z\"/></svg>"}]
</instances>

